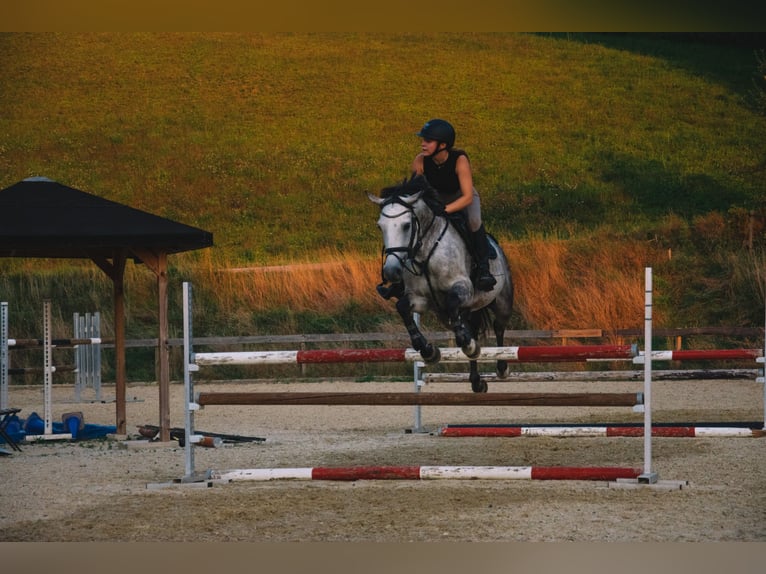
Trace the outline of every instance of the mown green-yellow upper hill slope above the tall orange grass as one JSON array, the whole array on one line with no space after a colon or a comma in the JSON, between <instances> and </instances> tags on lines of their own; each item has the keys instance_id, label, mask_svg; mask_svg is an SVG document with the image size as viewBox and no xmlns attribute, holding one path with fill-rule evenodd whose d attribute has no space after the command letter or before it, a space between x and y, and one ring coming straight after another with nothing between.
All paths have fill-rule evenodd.
<instances>
[{"instance_id":1,"label":"mown green-yellow upper hill slope above the tall orange grass","mask_svg":"<svg viewBox=\"0 0 766 574\"><path fill-rule=\"evenodd\" d=\"M0 185L45 175L253 264L377 249L377 192L454 123L488 227L654 233L764 210L753 49L646 35L4 34ZM674 219L675 220L675 219Z\"/></svg>"}]
</instances>

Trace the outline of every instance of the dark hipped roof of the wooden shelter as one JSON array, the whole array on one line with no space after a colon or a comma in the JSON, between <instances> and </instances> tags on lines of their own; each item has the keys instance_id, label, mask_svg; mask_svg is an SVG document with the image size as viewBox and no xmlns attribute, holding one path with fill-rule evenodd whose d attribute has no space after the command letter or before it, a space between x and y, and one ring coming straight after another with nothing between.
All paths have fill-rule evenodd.
<instances>
[{"instance_id":1,"label":"dark hipped roof of the wooden shelter","mask_svg":"<svg viewBox=\"0 0 766 574\"><path fill-rule=\"evenodd\" d=\"M47 178L0 191L0 257L112 257L122 248L169 254L212 245L208 231Z\"/></svg>"}]
</instances>

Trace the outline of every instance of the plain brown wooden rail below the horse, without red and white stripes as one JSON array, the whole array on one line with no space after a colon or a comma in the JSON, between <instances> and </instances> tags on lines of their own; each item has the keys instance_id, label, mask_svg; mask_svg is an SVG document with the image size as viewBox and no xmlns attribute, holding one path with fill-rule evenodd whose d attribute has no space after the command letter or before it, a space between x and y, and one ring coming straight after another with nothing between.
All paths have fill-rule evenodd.
<instances>
[{"instance_id":1,"label":"plain brown wooden rail below the horse, without red and white stripes","mask_svg":"<svg viewBox=\"0 0 766 574\"><path fill-rule=\"evenodd\" d=\"M643 393L268 393L201 392L200 406L212 405L441 405L632 407Z\"/></svg>"}]
</instances>

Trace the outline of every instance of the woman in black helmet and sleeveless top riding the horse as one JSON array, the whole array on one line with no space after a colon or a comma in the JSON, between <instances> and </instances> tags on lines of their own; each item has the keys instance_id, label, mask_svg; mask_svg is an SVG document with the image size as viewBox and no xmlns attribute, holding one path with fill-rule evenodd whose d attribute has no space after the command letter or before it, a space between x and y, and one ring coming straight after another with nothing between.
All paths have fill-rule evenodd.
<instances>
[{"instance_id":1,"label":"woman in black helmet and sleeveless top riding the horse","mask_svg":"<svg viewBox=\"0 0 766 574\"><path fill-rule=\"evenodd\" d=\"M491 291L496 280L489 270L490 245L481 221L481 202L473 186L471 163L465 151L455 145L455 129L440 119L429 120L417 133L421 152L412 162L412 171L424 175L444 202L444 212L463 211L476 256L476 287Z\"/></svg>"}]
</instances>

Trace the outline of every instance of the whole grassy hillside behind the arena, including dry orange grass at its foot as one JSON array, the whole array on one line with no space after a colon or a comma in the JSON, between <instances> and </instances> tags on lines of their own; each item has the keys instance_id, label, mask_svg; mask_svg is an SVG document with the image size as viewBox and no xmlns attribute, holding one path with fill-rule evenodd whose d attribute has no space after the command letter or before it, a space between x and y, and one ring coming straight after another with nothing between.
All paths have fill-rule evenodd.
<instances>
[{"instance_id":1,"label":"whole grassy hillside behind the arena, including dry orange grass at its foot","mask_svg":"<svg viewBox=\"0 0 766 574\"><path fill-rule=\"evenodd\" d=\"M651 264L668 326L760 325L759 42L2 34L0 187L43 175L212 231L212 250L171 261L222 311L210 334L310 331L312 320L344 330L352 318L369 327L391 309L373 293L380 238L365 192L407 176L415 132L443 117L469 153L488 229L511 253L520 323L624 326L626 315L603 310L623 306ZM338 260L353 281L222 271ZM79 262L0 270L0 299L33 305L19 330L39 330L32 293L58 294L64 317L109 309L107 284ZM148 274L129 279L150 293ZM133 336L151 331L146 299L129 301ZM314 319L296 319L304 312Z\"/></svg>"}]
</instances>

